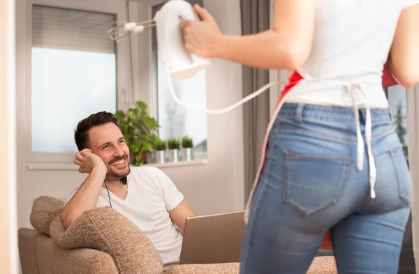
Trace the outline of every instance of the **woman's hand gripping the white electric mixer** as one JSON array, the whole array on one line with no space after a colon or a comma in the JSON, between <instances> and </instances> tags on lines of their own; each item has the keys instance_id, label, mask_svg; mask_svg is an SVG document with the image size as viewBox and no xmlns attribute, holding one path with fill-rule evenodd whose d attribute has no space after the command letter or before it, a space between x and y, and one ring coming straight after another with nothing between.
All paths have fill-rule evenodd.
<instances>
[{"instance_id":1,"label":"woman's hand gripping the white electric mixer","mask_svg":"<svg viewBox=\"0 0 419 274\"><path fill-rule=\"evenodd\" d=\"M182 20L179 26L184 36L184 46L191 54L204 58L216 57L217 40L222 36L214 17L199 5L194 6L200 20Z\"/></svg>"}]
</instances>

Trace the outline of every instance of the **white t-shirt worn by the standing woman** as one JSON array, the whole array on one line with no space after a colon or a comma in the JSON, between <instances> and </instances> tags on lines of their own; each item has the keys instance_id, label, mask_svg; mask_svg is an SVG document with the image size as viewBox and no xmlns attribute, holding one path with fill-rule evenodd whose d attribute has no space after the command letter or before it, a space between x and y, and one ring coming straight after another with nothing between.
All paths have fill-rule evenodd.
<instances>
[{"instance_id":1,"label":"white t-shirt worn by the standing woman","mask_svg":"<svg viewBox=\"0 0 419 274\"><path fill-rule=\"evenodd\" d=\"M295 86L287 102L351 107L348 88L358 106L388 107L381 77L399 16L419 0L316 0L313 46L297 70L306 81ZM359 87L360 86L360 87Z\"/></svg>"}]
</instances>

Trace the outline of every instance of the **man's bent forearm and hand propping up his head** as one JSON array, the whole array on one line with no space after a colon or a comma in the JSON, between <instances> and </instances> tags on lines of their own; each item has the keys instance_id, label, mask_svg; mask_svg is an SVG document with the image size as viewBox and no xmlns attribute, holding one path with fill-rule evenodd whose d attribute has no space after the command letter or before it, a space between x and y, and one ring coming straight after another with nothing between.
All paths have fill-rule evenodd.
<instances>
[{"instance_id":1,"label":"man's bent forearm and hand propping up his head","mask_svg":"<svg viewBox=\"0 0 419 274\"><path fill-rule=\"evenodd\" d=\"M108 172L102 159L89 150L80 151L76 155L74 162L76 165L80 165L80 172L89 173L89 176L80 185L80 188L75 192L75 195L68 201L66 206L64 206L59 215L66 229L84 211L96 208L102 184Z\"/></svg>"}]
</instances>

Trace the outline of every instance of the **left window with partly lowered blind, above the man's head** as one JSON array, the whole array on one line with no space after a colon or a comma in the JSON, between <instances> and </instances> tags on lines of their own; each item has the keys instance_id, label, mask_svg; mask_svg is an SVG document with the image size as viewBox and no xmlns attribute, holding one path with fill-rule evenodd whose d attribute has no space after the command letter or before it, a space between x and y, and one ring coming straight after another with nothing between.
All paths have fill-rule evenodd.
<instances>
[{"instance_id":1,"label":"left window with partly lowered blind, above the man's head","mask_svg":"<svg viewBox=\"0 0 419 274\"><path fill-rule=\"evenodd\" d=\"M117 110L115 15L32 7L31 152L75 153L74 129Z\"/></svg>"}]
</instances>

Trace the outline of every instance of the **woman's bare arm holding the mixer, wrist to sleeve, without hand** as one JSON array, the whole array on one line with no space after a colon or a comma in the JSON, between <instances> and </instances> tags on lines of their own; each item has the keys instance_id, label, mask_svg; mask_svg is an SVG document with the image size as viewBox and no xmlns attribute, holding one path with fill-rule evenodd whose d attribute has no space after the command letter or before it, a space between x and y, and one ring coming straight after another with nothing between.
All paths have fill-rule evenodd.
<instances>
[{"instance_id":1,"label":"woman's bare arm holding the mixer, wrist to sleeve, without hand","mask_svg":"<svg viewBox=\"0 0 419 274\"><path fill-rule=\"evenodd\" d=\"M273 27L248 36L221 36L215 56L247 66L295 70L311 52L314 0L276 0Z\"/></svg>"}]
</instances>

